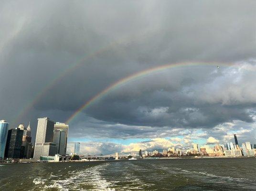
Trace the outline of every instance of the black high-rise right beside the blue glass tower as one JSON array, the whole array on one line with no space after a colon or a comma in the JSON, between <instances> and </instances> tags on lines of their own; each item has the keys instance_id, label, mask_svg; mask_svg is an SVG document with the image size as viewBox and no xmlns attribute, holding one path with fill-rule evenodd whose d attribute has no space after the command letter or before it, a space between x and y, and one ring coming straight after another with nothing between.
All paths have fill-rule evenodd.
<instances>
[{"instance_id":1,"label":"black high-rise right beside the blue glass tower","mask_svg":"<svg viewBox=\"0 0 256 191\"><path fill-rule=\"evenodd\" d=\"M4 156L6 158L19 159L21 155L23 130L20 128L8 130Z\"/></svg>"}]
</instances>

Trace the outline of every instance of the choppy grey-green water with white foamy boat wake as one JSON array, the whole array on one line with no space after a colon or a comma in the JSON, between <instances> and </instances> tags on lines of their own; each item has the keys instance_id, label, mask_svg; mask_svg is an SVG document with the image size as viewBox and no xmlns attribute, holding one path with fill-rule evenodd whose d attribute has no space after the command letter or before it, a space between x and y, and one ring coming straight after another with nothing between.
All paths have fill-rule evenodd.
<instances>
[{"instance_id":1,"label":"choppy grey-green water with white foamy boat wake","mask_svg":"<svg viewBox=\"0 0 256 191\"><path fill-rule=\"evenodd\" d=\"M256 158L0 166L0 191L253 191Z\"/></svg>"}]
</instances>

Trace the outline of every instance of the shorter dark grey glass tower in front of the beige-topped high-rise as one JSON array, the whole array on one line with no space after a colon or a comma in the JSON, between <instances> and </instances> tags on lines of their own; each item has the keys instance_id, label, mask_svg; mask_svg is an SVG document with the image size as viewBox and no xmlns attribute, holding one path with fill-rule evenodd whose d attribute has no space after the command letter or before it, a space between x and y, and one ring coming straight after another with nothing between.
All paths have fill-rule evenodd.
<instances>
[{"instance_id":1,"label":"shorter dark grey glass tower in front of the beige-topped high-rise","mask_svg":"<svg viewBox=\"0 0 256 191\"><path fill-rule=\"evenodd\" d=\"M53 143L56 144L57 153L65 155L66 132L62 130L53 131Z\"/></svg>"}]
</instances>

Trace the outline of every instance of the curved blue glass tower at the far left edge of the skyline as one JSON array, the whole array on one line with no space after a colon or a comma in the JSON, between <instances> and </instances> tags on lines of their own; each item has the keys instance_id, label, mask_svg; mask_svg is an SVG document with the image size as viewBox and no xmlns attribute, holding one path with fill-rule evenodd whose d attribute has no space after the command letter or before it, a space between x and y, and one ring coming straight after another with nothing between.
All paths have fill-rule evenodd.
<instances>
[{"instance_id":1,"label":"curved blue glass tower at the far left edge of the skyline","mask_svg":"<svg viewBox=\"0 0 256 191\"><path fill-rule=\"evenodd\" d=\"M7 123L5 120L0 120L0 160L4 158L8 126L9 123Z\"/></svg>"}]
</instances>

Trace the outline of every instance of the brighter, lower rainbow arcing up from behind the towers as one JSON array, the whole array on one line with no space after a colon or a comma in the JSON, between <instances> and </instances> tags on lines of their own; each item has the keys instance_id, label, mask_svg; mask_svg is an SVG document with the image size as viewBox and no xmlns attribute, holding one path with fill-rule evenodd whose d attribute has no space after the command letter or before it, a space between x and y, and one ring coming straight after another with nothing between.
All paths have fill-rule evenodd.
<instances>
[{"instance_id":1,"label":"brighter, lower rainbow arcing up from behind the towers","mask_svg":"<svg viewBox=\"0 0 256 191\"><path fill-rule=\"evenodd\" d=\"M147 76L149 74L154 74L163 70L167 70L170 68L175 68L175 67L183 67L183 66L196 66L196 65L211 65L211 66L232 66L234 64L232 63L200 63L200 62L192 62L192 63L175 63L175 64L164 64L164 65L160 65L157 67L153 67L153 68L149 68L143 71L140 71L138 73L129 75L125 78L122 78L120 80L118 80L117 82L115 82L112 85L109 85L106 89L104 89L103 91L99 92L96 96L92 97L90 100L86 101L81 107L79 107L75 113L70 116L65 123L69 123L70 121L72 121L79 113L81 113L84 109L86 109L87 107L91 106L92 104L94 104L97 100L103 98L104 96L107 96L108 93L114 91L115 89L117 89L118 87L125 85L127 83L129 83L130 81L133 81L135 79L138 78L142 78L144 76Z\"/></svg>"}]
</instances>

